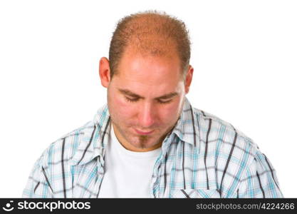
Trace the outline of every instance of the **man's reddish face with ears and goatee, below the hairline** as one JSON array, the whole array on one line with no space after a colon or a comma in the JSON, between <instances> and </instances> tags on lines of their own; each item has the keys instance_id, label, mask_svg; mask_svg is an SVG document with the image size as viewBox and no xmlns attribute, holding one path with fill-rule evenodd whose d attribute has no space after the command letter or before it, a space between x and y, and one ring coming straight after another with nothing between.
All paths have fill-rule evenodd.
<instances>
[{"instance_id":1,"label":"man's reddish face with ears and goatee, below the hairline","mask_svg":"<svg viewBox=\"0 0 297 214\"><path fill-rule=\"evenodd\" d=\"M99 75L108 88L108 111L118 141L130 151L152 151L177 123L194 69L182 78L177 53L143 56L127 49L110 80L108 58L100 58ZM165 97L165 95L170 95ZM153 131L142 135L135 131Z\"/></svg>"}]
</instances>

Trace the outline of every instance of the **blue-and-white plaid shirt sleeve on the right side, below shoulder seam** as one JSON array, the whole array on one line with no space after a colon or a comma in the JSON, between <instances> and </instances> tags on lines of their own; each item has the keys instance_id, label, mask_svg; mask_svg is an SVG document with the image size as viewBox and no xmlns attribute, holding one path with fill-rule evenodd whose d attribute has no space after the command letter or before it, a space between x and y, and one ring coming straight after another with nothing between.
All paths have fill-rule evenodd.
<instances>
[{"instance_id":1,"label":"blue-and-white plaid shirt sleeve on the right side, below shoulder seam","mask_svg":"<svg viewBox=\"0 0 297 214\"><path fill-rule=\"evenodd\" d=\"M259 150L239 181L237 198L283 198L276 170Z\"/></svg>"}]
</instances>

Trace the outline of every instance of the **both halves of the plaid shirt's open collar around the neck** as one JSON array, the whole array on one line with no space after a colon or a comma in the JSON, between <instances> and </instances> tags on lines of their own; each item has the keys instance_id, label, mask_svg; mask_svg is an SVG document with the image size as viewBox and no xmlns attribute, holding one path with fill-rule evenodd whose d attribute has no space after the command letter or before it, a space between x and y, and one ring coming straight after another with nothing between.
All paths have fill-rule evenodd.
<instances>
[{"instance_id":1,"label":"both halves of the plaid shirt's open collar around the neck","mask_svg":"<svg viewBox=\"0 0 297 214\"><path fill-rule=\"evenodd\" d=\"M168 133L167 138L172 137L174 133L180 141L196 146L199 142L199 127L195 113L187 97L185 97L182 113L172 131ZM98 156L100 157L100 163L104 164L103 154L110 138L110 124L108 105L105 104L98 109L93 121L85 125L87 127L83 129L84 134L73 158L71 158L71 165L82 165ZM170 147L170 142L170 140L164 141L162 145L163 153L166 153Z\"/></svg>"}]
</instances>

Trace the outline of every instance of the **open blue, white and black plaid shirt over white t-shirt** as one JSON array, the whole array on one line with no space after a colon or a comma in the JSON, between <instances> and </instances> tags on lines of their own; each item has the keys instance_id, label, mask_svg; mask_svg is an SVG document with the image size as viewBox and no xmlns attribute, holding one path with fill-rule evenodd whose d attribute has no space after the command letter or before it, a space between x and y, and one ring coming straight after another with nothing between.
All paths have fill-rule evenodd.
<instances>
[{"instance_id":1,"label":"open blue, white and black plaid shirt over white t-shirt","mask_svg":"<svg viewBox=\"0 0 297 214\"><path fill-rule=\"evenodd\" d=\"M93 121L51 143L22 197L98 198L109 138L105 104ZM187 98L162 143L150 189L152 198L283 198L276 171L251 138Z\"/></svg>"}]
</instances>

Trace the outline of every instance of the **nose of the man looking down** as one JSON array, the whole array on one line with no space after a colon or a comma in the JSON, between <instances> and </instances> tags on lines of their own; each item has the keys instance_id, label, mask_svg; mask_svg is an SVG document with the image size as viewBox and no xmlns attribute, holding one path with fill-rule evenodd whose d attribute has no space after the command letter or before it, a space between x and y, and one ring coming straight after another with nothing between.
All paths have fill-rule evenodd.
<instances>
[{"instance_id":1,"label":"nose of the man looking down","mask_svg":"<svg viewBox=\"0 0 297 214\"><path fill-rule=\"evenodd\" d=\"M155 123L156 110L153 103L144 102L140 111L138 113L139 125L140 128L147 128L147 130L142 131L151 131L152 125Z\"/></svg>"}]
</instances>

